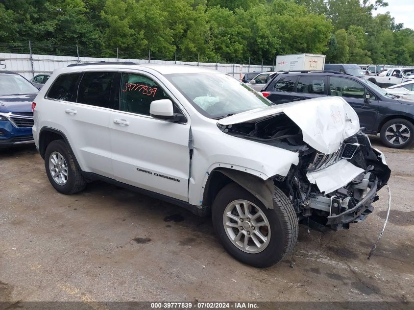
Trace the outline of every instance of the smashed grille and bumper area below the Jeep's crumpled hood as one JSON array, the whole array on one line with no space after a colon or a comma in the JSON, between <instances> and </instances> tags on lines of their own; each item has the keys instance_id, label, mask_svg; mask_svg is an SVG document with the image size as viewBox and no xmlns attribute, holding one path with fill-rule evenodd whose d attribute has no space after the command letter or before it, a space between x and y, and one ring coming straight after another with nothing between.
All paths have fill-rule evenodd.
<instances>
[{"instance_id":1,"label":"smashed grille and bumper area below the Jeep's crumpled hood","mask_svg":"<svg viewBox=\"0 0 414 310\"><path fill-rule=\"evenodd\" d=\"M332 154L300 154L299 165L292 166L283 182L276 183L286 189L299 221L319 230L340 230L372 213L377 191L389 178L384 154L372 148L360 131ZM344 185L338 187L339 184Z\"/></svg>"}]
</instances>

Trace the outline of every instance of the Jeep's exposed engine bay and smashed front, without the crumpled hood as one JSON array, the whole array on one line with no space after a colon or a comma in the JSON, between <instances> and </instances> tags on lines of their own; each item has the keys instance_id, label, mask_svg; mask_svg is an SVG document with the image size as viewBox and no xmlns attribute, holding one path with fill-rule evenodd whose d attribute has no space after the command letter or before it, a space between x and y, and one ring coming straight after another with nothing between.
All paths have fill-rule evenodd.
<instances>
[{"instance_id":1,"label":"Jeep's exposed engine bay and smashed front, without the crumpled hood","mask_svg":"<svg viewBox=\"0 0 414 310\"><path fill-rule=\"evenodd\" d=\"M286 176L273 176L273 181L291 200L299 221L318 230L348 229L350 223L363 221L374 209L371 204L378 199L377 191L390 178L383 154L371 147L362 129L342 141L339 149L324 154L303 141L301 128L284 113L219 128L298 153L298 165L292 165ZM342 180L346 169L352 170L352 178ZM343 183L340 188L332 182L338 179L338 184Z\"/></svg>"}]
</instances>

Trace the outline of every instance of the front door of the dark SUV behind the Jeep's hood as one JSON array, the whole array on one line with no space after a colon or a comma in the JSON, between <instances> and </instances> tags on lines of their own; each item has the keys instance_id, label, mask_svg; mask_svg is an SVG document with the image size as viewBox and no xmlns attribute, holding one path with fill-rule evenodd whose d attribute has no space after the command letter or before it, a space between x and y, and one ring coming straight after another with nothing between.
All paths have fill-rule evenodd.
<instances>
[{"instance_id":1,"label":"front door of the dark SUV behind the Jeep's hood","mask_svg":"<svg viewBox=\"0 0 414 310\"><path fill-rule=\"evenodd\" d=\"M371 94L365 101L365 94L369 93L361 83L346 77L330 76L330 95L343 97L357 112L360 126L367 131L375 131L374 124L378 113L378 99Z\"/></svg>"}]
</instances>

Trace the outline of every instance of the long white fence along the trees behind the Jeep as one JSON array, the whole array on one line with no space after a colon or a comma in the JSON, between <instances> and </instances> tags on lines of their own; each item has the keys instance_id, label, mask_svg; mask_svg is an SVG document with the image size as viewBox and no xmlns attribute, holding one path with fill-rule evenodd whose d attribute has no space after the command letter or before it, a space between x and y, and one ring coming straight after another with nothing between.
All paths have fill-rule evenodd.
<instances>
[{"instance_id":1,"label":"long white fence along the trees behind the Jeep","mask_svg":"<svg viewBox=\"0 0 414 310\"><path fill-rule=\"evenodd\" d=\"M0 70L13 71L22 74L25 78L31 79L34 75L39 73L51 73L55 69L67 67L70 64L77 63L77 57L71 56L53 56L53 55L32 55L32 61L30 54L11 54L0 53ZM97 57L79 57L81 63L87 62L124 62L131 61L136 63L148 63L148 59L124 59L124 58L97 58ZM232 74L234 77L239 78L241 72L254 72L254 71L269 71L271 66L260 65L242 65L242 64L221 64L221 63L202 63L202 62L189 62L189 61L176 61L173 60L156 60L151 59L151 63L161 64L186 64L200 67L208 67Z\"/></svg>"}]
</instances>

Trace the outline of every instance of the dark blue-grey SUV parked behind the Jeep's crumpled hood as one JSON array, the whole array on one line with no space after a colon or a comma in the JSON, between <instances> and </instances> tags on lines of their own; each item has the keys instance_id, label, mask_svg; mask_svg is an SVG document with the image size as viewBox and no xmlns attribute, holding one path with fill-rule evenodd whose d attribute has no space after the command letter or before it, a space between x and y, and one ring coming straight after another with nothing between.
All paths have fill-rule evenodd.
<instances>
[{"instance_id":1,"label":"dark blue-grey SUV parked behind the Jeep's crumpled hood","mask_svg":"<svg viewBox=\"0 0 414 310\"><path fill-rule=\"evenodd\" d=\"M343 97L357 112L364 132L380 133L384 145L404 148L414 141L414 102L345 73L277 74L262 94L280 104L325 96Z\"/></svg>"}]
</instances>

